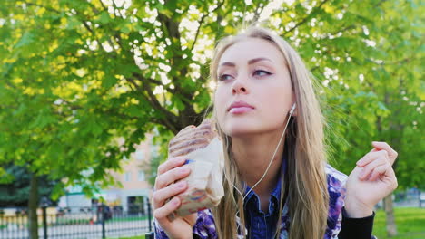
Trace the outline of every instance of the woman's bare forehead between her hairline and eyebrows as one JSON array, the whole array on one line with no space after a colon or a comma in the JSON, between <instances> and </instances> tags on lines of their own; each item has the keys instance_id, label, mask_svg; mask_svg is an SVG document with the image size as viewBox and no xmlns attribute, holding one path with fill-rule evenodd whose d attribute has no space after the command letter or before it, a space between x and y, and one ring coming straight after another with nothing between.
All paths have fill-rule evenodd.
<instances>
[{"instance_id":1,"label":"woman's bare forehead between her hairline and eyebrows","mask_svg":"<svg viewBox=\"0 0 425 239\"><path fill-rule=\"evenodd\" d=\"M269 59L272 63L284 63L282 52L273 43L260 38L247 38L227 48L219 61L219 66L228 62L248 63L252 59Z\"/></svg>"}]
</instances>

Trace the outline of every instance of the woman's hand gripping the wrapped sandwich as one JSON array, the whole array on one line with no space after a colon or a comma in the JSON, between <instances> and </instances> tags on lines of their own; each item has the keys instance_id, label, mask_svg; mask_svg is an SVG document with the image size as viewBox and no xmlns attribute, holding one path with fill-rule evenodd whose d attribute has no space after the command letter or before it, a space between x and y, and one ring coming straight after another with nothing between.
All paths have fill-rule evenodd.
<instances>
[{"instance_id":1,"label":"woman's hand gripping the wrapped sandwich","mask_svg":"<svg viewBox=\"0 0 425 239\"><path fill-rule=\"evenodd\" d=\"M190 174L190 168L184 166L185 158L169 158L158 167L158 174L153 187L152 205L153 216L161 225L169 238L192 238L193 225L196 222L196 214L176 216L173 220L168 218L181 204L179 195L187 189L187 182L181 180ZM175 196L175 197L173 197ZM173 197L172 200L168 201Z\"/></svg>"}]
</instances>

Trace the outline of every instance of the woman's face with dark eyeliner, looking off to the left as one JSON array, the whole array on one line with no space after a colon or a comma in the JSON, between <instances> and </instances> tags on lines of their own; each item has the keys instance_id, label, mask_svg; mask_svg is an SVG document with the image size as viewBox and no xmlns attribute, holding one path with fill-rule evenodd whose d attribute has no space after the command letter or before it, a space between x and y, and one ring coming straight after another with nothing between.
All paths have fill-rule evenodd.
<instances>
[{"instance_id":1,"label":"woman's face with dark eyeliner, looking off to the left","mask_svg":"<svg viewBox=\"0 0 425 239\"><path fill-rule=\"evenodd\" d=\"M286 65L275 45L257 38L235 43L222 54L214 108L226 135L243 137L283 128L294 102Z\"/></svg>"}]
</instances>

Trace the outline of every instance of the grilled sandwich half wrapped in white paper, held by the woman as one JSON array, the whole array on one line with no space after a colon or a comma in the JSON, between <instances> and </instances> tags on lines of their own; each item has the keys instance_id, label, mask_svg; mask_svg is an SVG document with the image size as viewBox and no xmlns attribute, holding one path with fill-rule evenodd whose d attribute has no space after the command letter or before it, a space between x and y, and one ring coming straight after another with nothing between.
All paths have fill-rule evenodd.
<instances>
[{"instance_id":1,"label":"grilled sandwich half wrapped in white paper, held by the woman","mask_svg":"<svg viewBox=\"0 0 425 239\"><path fill-rule=\"evenodd\" d=\"M206 119L198 127L188 126L180 131L168 148L169 157L186 158L192 171L188 189L177 195L182 202L177 215L189 215L208 207L217 206L224 195L222 167L224 155L213 120Z\"/></svg>"}]
</instances>

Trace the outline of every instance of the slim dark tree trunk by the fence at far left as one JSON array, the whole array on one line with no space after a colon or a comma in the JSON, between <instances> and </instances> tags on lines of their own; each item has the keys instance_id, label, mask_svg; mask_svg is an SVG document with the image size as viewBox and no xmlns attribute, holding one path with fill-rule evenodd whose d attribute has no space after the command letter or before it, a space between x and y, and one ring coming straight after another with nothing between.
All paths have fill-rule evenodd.
<instances>
[{"instance_id":1,"label":"slim dark tree trunk by the fence at far left","mask_svg":"<svg viewBox=\"0 0 425 239\"><path fill-rule=\"evenodd\" d=\"M38 223L37 223L37 207L38 207L38 177L32 173L30 179L30 191L28 200L28 219L29 219L29 235L30 239L38 239Z\"/></svg>"}]
</instances>

